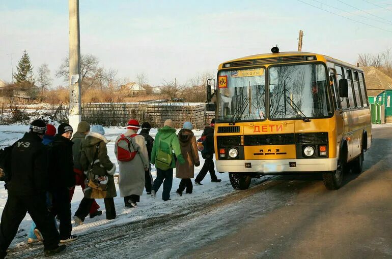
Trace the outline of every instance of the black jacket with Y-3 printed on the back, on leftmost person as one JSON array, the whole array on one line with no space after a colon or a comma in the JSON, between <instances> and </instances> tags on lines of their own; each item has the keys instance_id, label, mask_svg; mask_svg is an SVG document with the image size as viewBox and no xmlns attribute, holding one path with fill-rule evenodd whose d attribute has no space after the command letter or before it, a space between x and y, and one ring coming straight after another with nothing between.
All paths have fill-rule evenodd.
<instances>
[{"instance_id":1,"label":"black jacket with Y-3 printed on the back, on leftmost person","mask_svg":"<svg viewBox=\"0 0 392 259\"><path fill-rule=\"evenodd\" d=\"M25 133L16 141L11 154L12 178L7 183L11 195L37 195L47 190L47 148L42 139L33 133Z\"/></svg>"}]
</instances>

